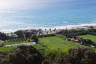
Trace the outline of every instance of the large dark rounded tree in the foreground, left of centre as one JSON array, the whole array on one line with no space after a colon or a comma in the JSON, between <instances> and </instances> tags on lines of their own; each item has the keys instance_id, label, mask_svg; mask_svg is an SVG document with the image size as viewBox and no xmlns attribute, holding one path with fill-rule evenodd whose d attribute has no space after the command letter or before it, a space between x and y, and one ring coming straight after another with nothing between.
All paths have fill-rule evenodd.
<instances>
[{"instance_id":1,"label":"large dark rounded tree in the foreground, left of centre","mask_svg":"<svg viewBox=\"0 0 96 64\"><path fill-rule=\"evenodd\" d=\"M41 64L42 55L32 46L20 46L9 55L10 64Z\"/></svg>"}]
</instances>

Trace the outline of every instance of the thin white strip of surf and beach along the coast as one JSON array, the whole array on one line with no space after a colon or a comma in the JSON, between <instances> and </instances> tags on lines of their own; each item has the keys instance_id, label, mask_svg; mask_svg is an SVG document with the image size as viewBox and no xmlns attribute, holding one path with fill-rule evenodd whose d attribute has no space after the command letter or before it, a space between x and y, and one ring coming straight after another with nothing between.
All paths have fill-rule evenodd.
<instances>
[{"instance_id":1,"label":"thin white strip of surf and beach along the coast","mask_svg":"<svg viewBox=\"0 0 96 64\"><path fill-rule=\"evenodd\" d=\"M17 30L31 30L31 29L42 29L42 30L49 30L49 29L80 29L80 28L85 28L87 29L88 27L94 27L96 28L96 24L78 24L78 25L66 25L66 26L54 26L54 27L26 27L26 28L17 28L17 29L8 29L8 30L1 30L0 32L4 33L11 33L15 32Z\"/></svg>"}]
</instances>

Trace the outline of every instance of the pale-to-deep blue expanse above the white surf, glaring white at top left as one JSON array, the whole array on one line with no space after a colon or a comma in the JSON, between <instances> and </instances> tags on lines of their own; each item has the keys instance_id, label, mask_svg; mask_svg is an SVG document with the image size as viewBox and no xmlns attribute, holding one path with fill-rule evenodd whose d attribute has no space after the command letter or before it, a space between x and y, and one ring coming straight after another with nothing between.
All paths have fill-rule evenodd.
<instances>
[{"instance_id":1,"label":"pale-to-deep blue expanse above the white surf, glaring white at top left","mask_svg":"<svg viewBox=\"0 0 96 64\"><path fill-rule=\"evenodd\" d=\"M96 0L0 0L0 31L96 23Z\"/></svg>"}]
</instances>

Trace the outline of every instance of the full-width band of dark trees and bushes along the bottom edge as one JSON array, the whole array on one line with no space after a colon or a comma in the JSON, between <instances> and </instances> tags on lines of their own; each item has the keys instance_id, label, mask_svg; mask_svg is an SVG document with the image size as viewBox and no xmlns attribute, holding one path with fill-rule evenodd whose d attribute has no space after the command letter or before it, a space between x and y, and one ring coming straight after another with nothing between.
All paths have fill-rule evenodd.
<instances>
[{"instance_id":1,"label":"full-width band of dark trees and bushes along the bottom edge","mask_svg":"<svg viewBox=\"0 0 96 64\"><path fill-rule=\"evenodd\" d=\"M61 50L41 54L32 46L20 46L12 52L0 52L0 64L96 64L96 53L88 48Z\"/></svg>"}]
</instances>

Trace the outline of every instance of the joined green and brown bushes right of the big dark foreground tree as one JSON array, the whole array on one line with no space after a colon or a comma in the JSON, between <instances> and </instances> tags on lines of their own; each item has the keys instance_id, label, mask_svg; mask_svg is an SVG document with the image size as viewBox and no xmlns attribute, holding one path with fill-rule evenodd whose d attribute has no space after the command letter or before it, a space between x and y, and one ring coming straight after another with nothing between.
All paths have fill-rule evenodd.
<instances>
[{"instance_id":1,"label":"joined green and brown bushes right of the big dark foreground tree","mask_svg":"<svg viewBox=\"0 0 96 64\"><path fill-rule=\"evenodd\" d=\"M88 48L70 49L68 53L53 51L45 56L43 64L96 64L96 53Z\"/></svg>"}]
</instances>

